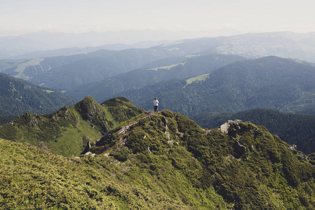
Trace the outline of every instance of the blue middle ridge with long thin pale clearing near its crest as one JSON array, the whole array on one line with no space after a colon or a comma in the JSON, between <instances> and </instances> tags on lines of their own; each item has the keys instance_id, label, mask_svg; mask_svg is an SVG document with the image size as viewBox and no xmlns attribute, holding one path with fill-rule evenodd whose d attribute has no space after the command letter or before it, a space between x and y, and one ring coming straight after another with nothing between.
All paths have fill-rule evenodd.
<instances>
[{"instance_id":1,"label":"blue middle ridge with long thin pale clearing near its crest","mask_svg":"<svg viewBox=\"0 0 315 210\"><path fill-rule=\"evenodd\" d=\"M186 59L186 60L183 60ZM245 58L237 55L211 54L188 59L188 57L175 57L175 59L162 59L161 64L170 64L172 61L183 60L177 64L168 66L159 66L153 69L138 69L112 76L98 83L89 83L75 87L67 94L76 98L83 98L91 95L98 102L112 98L126 90L137 90L146 85L152 85L163 80L174 78L190 78L199 76L203 73L209 73L214 69L220 68L226 64L244 60ZM158 66L159 62L148 64L148 66Z\"/></svg>"}]
</instances>

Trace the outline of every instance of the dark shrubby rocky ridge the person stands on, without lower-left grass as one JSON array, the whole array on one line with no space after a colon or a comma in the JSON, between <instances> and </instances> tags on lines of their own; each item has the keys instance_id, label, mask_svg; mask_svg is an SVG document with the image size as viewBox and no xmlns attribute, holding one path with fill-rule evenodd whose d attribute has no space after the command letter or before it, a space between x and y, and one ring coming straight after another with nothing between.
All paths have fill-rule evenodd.
<instances>
[{"instance_id":1,"label":"dark shrubby rocky ridge the person stands on, without lower-left grass","mask_svg":"<svg viewBox=\"0 0 315 210\"><path fill-rule=\"evenodd\" d=\"M90 152L137 165L140 169L132 167L124 176L145 175L138 183L142 188L151 182L176 186L173 196L196 209L204 208L199 195L196 200L187 196L191 187L182 180L192 183L188 191L210 193L214 188L234 209L307 209L315 204L315 162L264 127L240 120L202 130L178 113L147 113L109 132Z\"/></svg>"}]
</instances>

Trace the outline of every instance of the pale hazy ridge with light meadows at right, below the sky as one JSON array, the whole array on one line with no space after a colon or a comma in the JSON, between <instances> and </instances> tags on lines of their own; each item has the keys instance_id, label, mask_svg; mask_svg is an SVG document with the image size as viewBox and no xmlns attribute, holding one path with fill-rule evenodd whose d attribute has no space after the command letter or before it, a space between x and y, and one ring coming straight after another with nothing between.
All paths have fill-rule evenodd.
<instances>
[{"instance_id":1,"label":"pale hazy ridge with light meadows at right, below the sky","mask_svg":"<svg viewBox=\"0 0 315 210\"><path fill-rule=\"evenodd\" d=\"M185 53L220 53L250 59L274 55L315 62L315 33L296 34L289 31L195 38L162 45Z\"/></svg>"}]
</instances>

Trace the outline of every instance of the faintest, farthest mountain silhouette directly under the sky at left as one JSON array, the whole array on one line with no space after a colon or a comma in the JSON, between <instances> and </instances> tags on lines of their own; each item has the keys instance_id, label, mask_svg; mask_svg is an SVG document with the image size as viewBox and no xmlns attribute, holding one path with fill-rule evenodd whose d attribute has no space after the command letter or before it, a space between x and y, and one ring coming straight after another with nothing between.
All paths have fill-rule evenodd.
<instances>
[{"instance_id":1,"label":"faintest, farthest mountain silhouette directly under the sky at left","mask_svg":"<svg viewBox=\"0 0 315 210\"><path fill-rule=\"evenodd\" d=\"M8 59L17 55L43 50L58 50L63 48L86 48L107 45L108 50L123 50L116 48L121 43L129 48L149 48L161 43L169 43L183 38L231 36L240 31L158 31L158 30L128 30L89 32L83 34L38 31L20 36L0 37L0 59ZM116 45L116 46L114 46ZM115 47L115 48L112 48Z\"/></svg>"}]
</instances>

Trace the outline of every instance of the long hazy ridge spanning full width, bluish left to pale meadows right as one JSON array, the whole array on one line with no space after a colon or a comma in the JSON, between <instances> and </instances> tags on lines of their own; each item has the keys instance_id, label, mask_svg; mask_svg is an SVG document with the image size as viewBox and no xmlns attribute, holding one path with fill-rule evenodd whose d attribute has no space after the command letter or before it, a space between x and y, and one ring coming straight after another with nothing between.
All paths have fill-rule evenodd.
<instances>
[{"instance_id":1,"label":"long hazy ridge spanning full width, bluish left to pale meadows right","mask_svg":"<svg viewBox=\"0 0 315 210\"><path fill-rule=\"evenodd\" d=\"M274 55L315 62L314 42L314 33L292 32L185 39L145 49L98 50L81 55L1 60L0 71L36 85L68 91L119 73L147 69L147 66L165 66L163 63L166 59L180 56L196 57L220 53L256 59Z\"/></svg>"}]
</instances>

